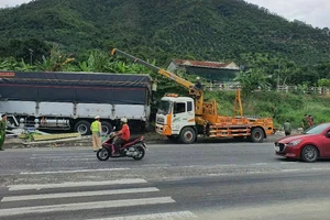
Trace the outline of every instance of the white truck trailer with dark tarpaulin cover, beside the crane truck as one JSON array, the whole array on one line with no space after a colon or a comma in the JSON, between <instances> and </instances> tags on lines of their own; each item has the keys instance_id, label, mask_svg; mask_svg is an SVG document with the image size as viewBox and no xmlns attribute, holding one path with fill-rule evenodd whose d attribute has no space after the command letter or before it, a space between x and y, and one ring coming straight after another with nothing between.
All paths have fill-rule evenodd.
<instances>
[{"instance_id":1,"label":"white truck trailer with dark tarpaulin cover, beside the crane truck","mask_svg":"<svg viewBox=\"0 0 330 220\"><path fill-rule=\"evenodd\" d=\"M133 129L144 129L150 105L148 75L0 72L0 113L8 114L9 127L24 123L84 135L100 116L103 133L122 117Z\"/></svg>"}]
</instances>

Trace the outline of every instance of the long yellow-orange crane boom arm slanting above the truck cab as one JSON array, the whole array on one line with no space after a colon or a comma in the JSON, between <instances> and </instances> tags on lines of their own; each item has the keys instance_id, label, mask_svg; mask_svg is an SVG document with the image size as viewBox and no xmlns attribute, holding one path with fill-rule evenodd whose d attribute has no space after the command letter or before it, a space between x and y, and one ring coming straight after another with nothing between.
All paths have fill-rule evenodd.
<instances>
[{"instance_id":1,"label":"long yellow-orange crane boom arm slanting above the truck cab","mask_svg":"<svg viewBox=\"0 0 330 220\"><path fill-rule=\"evenodd\" d=\"M175 75L170 72L167 72L167 70L162 69L160 67L156 67L152 64L148 64L148 63L146 63L146 62L140 59L140 58L136 58L136 57L134 57L134 56L132 56L132 55L130 55L125 52L122 52L118 48L113 48L111 51L111 55L116 55L116 54L119 54L120 56L127 57L127 58L131 59L133 63L141 64L141 65L143 65L143 66L145 66L145 67L147 67L147 68L150 68L154 72L157 72L160 75L174 80L175 82L177 82L177 84L182 85L183 87L187 88L189 90L189 94L193 95L193 96L197 96L197 97L201 96L202 90L196 89L195 85L193 82L187 81L186 79L183 79L182 77L179 77L179 76L177 76L177 75Z\"/></svg>"}]
</instances>

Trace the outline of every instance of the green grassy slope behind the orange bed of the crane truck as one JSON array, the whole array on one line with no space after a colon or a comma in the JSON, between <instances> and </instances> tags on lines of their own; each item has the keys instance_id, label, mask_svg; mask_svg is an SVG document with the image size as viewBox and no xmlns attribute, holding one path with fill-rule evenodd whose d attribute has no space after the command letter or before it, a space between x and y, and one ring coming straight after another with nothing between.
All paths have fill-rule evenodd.
<instances>
[{"instance_id":1,"label":"green grassy slope behind the orange bed of the crane truck","mask_svg":"<svg viewBox=\"0 0 330 220\"><path fill-rule=\"evenodd\" d=\"M217 100L220 114L232 116L234 91L208 91L206 98ZM293 128L300 128L306 113L314 117L315 123L330 122L330 97L258 91L242 95L241 99L244 116L272 117L278 129L282 129L285 120Z\"/></svg>"}]
</instances>

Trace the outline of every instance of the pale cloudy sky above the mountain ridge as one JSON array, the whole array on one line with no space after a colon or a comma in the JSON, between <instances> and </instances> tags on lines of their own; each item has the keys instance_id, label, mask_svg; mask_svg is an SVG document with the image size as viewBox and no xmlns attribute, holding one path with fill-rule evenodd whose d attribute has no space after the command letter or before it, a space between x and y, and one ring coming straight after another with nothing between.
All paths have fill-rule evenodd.
<instances>
[{"instance_id":1,"label":"pale cloudy sky above the mountain ridge","mask_svg":"<svg viewBox=\"0 0 330 220\"><path fill-rule=\"evenodd\" d=\"M30 0L0 0L0 8L14 7ZM299 20L314 28L330 29L330 0L245 0L268 9L289 21Z\"/></svg>"}]
</instances>

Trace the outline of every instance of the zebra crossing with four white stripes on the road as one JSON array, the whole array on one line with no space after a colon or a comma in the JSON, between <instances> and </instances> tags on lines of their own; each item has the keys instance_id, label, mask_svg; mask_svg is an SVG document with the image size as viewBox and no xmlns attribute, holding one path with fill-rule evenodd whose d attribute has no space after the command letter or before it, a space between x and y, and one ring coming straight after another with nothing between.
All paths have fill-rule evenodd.
<instances>
[{"instance_id":1,"label":"zebra crossing with four white stripes on the road","mask_svg":"<svg viewBox=\"0 0 330 220\"><path fill-rule=\"evenodd\" d=\"M4 217L14 217L16 219L26 218L26 215L34 215L37 217L38 213L48 213L53 217L55 215L69 215L70 211L79 211L79 210L90 210L90 211L98 211L98 209L116 209L122 207L147 207L146 209L150 210L147 215L138 215L135 213L128 213L131 216L123 216L123 217L113 217L108 216L101 219L95 220L188 220L188 219L196 219L197 217L190 212L189 210L185 211L174 211L174 212L158 212L153 213L153 208L156 208L157 205L170 205L175 204L176 201L168 196L156 196L155 193L158 193L160 189L156 187L123 187L123 188L116 188L116 189L102 189L102 190L81 190L81 191L73 191L73 193L64 193L69 190L73 187L88 187L88 186L113 186L113 185L135 185L135 184L147 184L145 179L141 178L128 178L128 179L117 179L117 180L101 180L101 182L69 182L69 183L62 183L62 184L42 184L42 185L11 185L9 186L10 191L14 191L14 195L3 197L1 200L1 205L3 207L0 209L0 219ZM38 189L62 189L62 193L54 193L50 194L46 190L42 194L33 194L25 190L38 190ZM75 189L77 190L77 188ZM19 195L19 194L23 195ZM13 193L12 193L13 194ZM140 198L139 195L140 194ZM148 195L150 194L150 195ZM107 197L109 195L119 195L118 198L116 196ZM96 198L98 196L106 196L100 199ZM51 199L65 199L65 198L81 198L81 202L78 199L74 199L76 202L68 202L70 200L64 200L65 204L57 204L61 200L52 201ZM88 197L92 199L91 201L85 201L84 197ZM95 198L94 198L95 197ZM107 199L107 200L105 200ZM26 202L28 201L28 202ZM33 205L35 202L35 205ZM55 202L55 204L53 204ZM28 206L21 206L24 204ZM47 204L47 205L43 205ZM172 207L172 206L169 206ZM158 209L158 208L157 208ZM132 209L134 210L134 209ZM110 212L111 215L111 212ZM97 216L96 216L97 217ZM62 217L63 218L63 217ZM73 217L70 217L73 218Z\"/></svg>"}]
</instances>

